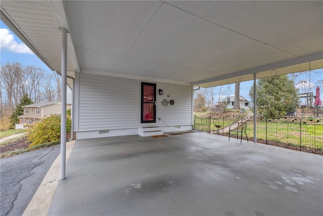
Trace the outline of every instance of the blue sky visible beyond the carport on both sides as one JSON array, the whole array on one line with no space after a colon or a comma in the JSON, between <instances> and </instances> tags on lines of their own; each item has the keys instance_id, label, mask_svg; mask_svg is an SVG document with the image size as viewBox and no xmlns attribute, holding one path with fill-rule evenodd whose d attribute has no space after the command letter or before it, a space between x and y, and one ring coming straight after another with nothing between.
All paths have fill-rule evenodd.
<instances>
[{"instance_id":1,"label":"blue sky visible beyond the carport on both sides","mask_svg":"<svg viewBox=\"0 0 323 216\"><path fill-rule=\"evenodd\" d=\"M46 73L51 73L51 70L2 21L0 23L0 45L1 65L5 65L7 62L19 62L23 66L34 65L44 69ZM308 77L305 74L299 78L308 81ZM314 93L317 80L323 80L323 69L311 71L311 85L313 87L312 92ZM249 90L252 85L253 80L241 82L240 84L240 95L247 100L250 100ZM234 88L234 84L231 84L231 93L228 96L234 94ZM321 88L321 95L323 95L323 88Z\"/></svg>"}]
</instances>

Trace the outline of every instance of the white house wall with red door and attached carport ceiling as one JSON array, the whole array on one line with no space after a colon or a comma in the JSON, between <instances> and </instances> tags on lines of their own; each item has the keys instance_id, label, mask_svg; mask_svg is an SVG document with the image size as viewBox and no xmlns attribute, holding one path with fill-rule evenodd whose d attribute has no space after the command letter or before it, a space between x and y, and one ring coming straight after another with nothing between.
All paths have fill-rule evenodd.
<instances>
[{"instance_id":1,"label":"white house wall with red door and attached carport ceiling","mask_svg":"<svg viewBox=\"0 0 323 216\"><path fill-rule=\"evenodd\" d=\"M322 7L2 1L1 20L67 81L76 138L85 139L191 129L194 87L322 68Z\"/></svg>"}]
</instances>

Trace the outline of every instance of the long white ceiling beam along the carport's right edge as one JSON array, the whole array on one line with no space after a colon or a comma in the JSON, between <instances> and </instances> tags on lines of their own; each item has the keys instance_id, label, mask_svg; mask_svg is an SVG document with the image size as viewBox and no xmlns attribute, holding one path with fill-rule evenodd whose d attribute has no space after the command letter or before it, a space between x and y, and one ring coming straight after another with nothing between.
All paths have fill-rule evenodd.
<instances>
[{"instance_id":1,"label":"long white ceiling beam along the carport's right edge","mask_svg":"<svg viewBox=\"0 0 323 216\"><path fill-rule=\"evenodd\" d=\"M278 68L282 68L282 67L303 64L306 62L317 61L317 60L321 60L321 59L323 59L323 52L319 52L319 53L309 55L309 56L290 59L290 60L286 60L286 61L282 61L282 62L263 65L263 66L256 67L256 68L250 68L250 69L246 69L246 70L237 71L235 73L225 74L225 75L221 75L221 76L217 76L217 77L213 77L213 78L209 78L209 79L204 79L204 80L192 82L192 85L199 85L199 84L204 84L204 83L208 83L208 82L214 82L214 81L229 79L229 78L233 78L233 77L249 75L249 74L253 74L253 73L259 73L259 72L263 72L263 71L267 71L267 70L274 70L274 69L278 69Z\"/></svg>"}]
</instances>

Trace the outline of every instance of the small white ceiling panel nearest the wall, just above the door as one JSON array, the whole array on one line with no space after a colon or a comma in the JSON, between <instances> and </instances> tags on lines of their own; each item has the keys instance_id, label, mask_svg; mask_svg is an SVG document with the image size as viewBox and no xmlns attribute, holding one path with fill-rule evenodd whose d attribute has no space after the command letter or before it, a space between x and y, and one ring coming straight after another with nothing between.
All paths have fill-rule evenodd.
<instances>
[{"instance_id":1,"label":"small white ceiling panel nearest the wall, just above the door","mask_svg":"<svg viewBox=\"0 0 323 216\"><path fill-rule=\"evenodd\" d=\"M145 61L141 59L133 59L129 57L124 57L118 67L113 71L115 73L128 73L131 71L131 74L142 76L146 71L157 66L158 63Z\"/></svg>"}]
</instances>

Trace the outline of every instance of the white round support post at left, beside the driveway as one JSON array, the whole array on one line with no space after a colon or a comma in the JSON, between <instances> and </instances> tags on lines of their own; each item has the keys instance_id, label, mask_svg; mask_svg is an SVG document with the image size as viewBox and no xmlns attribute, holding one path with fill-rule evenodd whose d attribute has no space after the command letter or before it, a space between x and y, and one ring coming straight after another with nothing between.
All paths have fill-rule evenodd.
<instances>
[{"instance_id":1,"label":"white round support post at left, beside the driveway","mask_svg":"<svg viewBox=\"0 0 323 216\"><path fill-rule=\"evenodd\" d=\"M66 169L66 88L67 88L67 30L62 28L62 107L61 107L61 176L60 179L65 179Z\"/></svg>"}]
</instances>

